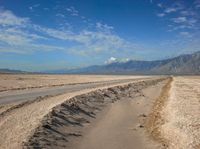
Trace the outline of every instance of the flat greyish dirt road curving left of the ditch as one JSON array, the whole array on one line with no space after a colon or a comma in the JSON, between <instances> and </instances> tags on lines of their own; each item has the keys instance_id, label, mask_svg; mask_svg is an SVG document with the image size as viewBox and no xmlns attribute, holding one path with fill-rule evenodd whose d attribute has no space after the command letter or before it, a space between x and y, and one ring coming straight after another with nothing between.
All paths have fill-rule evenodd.
<instances>
[{"instance_id":1,"label":"flat greyish dirt road curving left of the ditch","mask_svg":"<svg viewBox=\"0 0 200 149\"><path fill-rule=\"evenodd\" d=\"M23 102L34 100L42 96L55 96L64 93L72 93L75 91L81 91L83 89L92 89L107 85L114 85L119 83L126 83L137 79L121 79L121 80L108 80L102 82L89 82L89 83L76 83L68 84L64 86L55 86L55 87L45 87L45 88L31 88L25 90L9 90L5 92L0 92L0 104L10 104L14 102Z\"/></svg>"}]
</instances>

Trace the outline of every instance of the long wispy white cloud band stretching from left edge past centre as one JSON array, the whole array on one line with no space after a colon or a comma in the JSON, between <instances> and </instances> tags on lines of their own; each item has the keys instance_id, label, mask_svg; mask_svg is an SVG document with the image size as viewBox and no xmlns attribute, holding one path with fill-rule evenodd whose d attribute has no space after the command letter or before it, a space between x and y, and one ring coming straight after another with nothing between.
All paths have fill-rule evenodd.
<instances>
[{"instance_id":1,"label":"long wispy white cloud band stretching from left edge past centre","mask_svg":"<svg viewBox=\"0 0 200 149\"><path fill-rule=\"evenodd\" d=\"M11 11L2 10L0 14L1 47L8 52L26 53L40 50L62 50L73 54L84 54L85 56L95 53L119 50L131 50L135 45L113 33L114 27L97 22L93 30L82 29L74 32L72 29L55 29L31 23L29 18L17 17ZM17 27L16 27L17 26ZM34 32L34 34L33 34ZM42 44L42 41L66 41L76 43L69 45ZM51 43L51 42L45 42ZM13 50L11 50L13 47ZM28 49L28 50L27 50ZM1 52L1 51L0 51Z\"/></svg>"}]
</instances>

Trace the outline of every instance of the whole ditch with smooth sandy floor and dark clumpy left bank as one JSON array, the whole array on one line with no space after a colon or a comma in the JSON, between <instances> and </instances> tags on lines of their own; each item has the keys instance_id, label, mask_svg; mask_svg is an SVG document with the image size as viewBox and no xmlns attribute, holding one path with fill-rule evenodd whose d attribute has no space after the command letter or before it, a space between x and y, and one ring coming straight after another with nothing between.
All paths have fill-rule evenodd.
<instances>
[{"instance_id":1,"label":"whole ditch with smooth sandy floor and dark clumpy left bank","mask_svg":"<svg viewBox=\"0 0 200 149\"><path fill-rule=\"evenodd\" d=\"M55 107L25 143L27 148L121 149L158 145L146 140L144 118L161 79L98 90ZM151 87L150 87L151 86ZM149 87L148 89L145 89ZM56 141L55 141L56 140Z\"/></svg>"}]
</instances>

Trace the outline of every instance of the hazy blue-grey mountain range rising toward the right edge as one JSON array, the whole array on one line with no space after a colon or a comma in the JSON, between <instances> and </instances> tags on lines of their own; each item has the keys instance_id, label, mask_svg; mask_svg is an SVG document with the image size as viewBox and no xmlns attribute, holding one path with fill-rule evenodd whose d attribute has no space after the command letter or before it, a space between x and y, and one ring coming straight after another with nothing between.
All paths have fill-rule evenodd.
<instances>
[{"instance_id":1,"label":"hazy blue-grey mountain range rising toward the right edge","mask_svg":"<svg viewBox=\"0 0 200 149\"><path fill-rule=\"evenodd\" d=\"M103 74L200 74L200 52L158 61L115 62L67 71Z\"/></svg>"}]
</instances>

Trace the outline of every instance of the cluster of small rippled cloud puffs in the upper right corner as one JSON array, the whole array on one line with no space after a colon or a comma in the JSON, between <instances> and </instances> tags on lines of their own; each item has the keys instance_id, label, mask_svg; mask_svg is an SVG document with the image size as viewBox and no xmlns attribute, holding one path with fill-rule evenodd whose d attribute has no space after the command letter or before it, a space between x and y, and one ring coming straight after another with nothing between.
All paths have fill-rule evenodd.
<instances>
[{"instance_id":1,"label":"cluster of small rippled cloud puffs in the upper right corner","mask_svg":"<svg viewBox=\"0 0 200 149\"><path fill-rule=\"evenodd\" d=\"M157 13L156 15L160 18L165 17L165 21L168 21L168 26L170 28L168 31L180 30L180 32L184 32L184 30L187 31L188 29L190 31L197 30L199 28L198 12L195 9L192 9L198 4L197 1L190 7L184 5L184 2L174 2L171 5L161 4L162 7L160 7L161 5L159 3L157 6L161 8L162 12Z\"/></svg>"}]
</instances>

